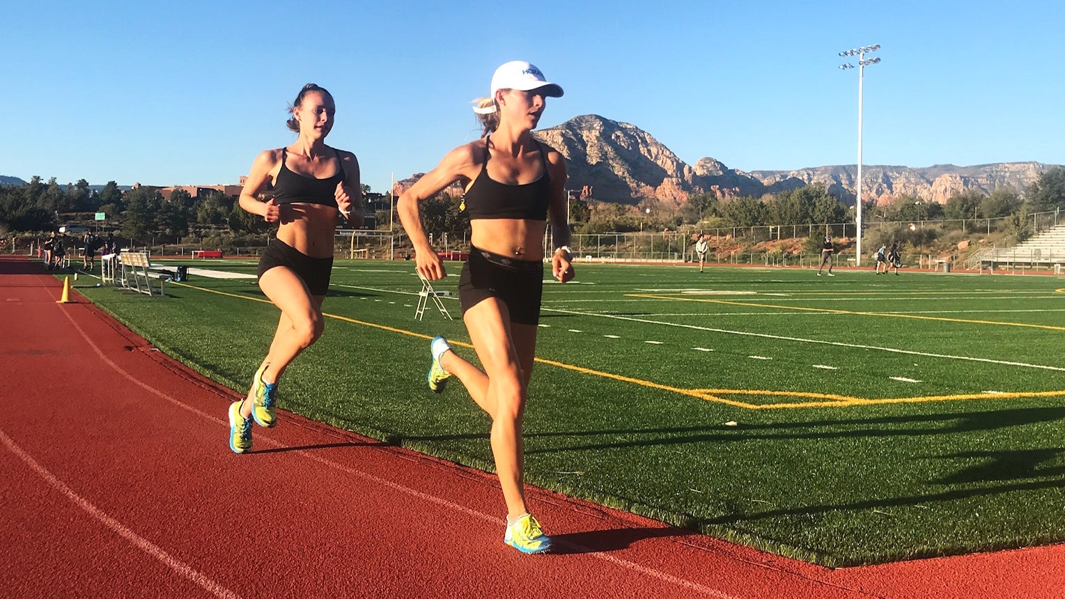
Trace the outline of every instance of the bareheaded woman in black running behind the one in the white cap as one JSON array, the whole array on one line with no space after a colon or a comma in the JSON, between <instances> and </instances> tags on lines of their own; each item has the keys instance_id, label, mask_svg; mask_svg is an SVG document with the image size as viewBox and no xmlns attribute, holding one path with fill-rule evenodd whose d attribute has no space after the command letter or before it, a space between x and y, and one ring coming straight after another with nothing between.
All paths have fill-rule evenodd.
<instances>
[{"instance_id":1,"label":"bareheaded woman in black running behind the one in the white cap","mask_svg":"<svg viewBox=\"0 0 1065 599\"><path fill-rule=\"evenodd\" d=\"M229 406L229 448L251 450L251 422L277 424L277 382L284 369L322 336L322 301L329 290L338 218L362 224L359 161L326 145L337 112L332 95L304 85L290 108L291 145L261 152L241 191L241 208L279 223L259 260L259 288L281 310L269 352L256 371L248 396ZM273 185L274 197L259 194Z\"/></svg>"}]
</instances>

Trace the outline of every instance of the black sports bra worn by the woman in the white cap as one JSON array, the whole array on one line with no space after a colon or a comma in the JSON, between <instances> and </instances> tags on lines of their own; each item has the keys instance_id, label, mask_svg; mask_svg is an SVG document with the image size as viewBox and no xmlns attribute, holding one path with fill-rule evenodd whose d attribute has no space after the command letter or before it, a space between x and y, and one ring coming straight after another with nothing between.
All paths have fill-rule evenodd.
<instances>
[{"instance_id":1,"label":"black sports bra worn by the woman in the white cap","mask_svg":"<svg viewBox=\"0 0 1065 599\"><path fill-rule=\"evenodd\" d=\"M539 144L539 142L537 142ZM547 152L540 145L540 160L543 174L535 181L508 185L488 176L488 139L485 140L485 162L480 174L466 191L463 201L475 218L527 218L546 221L547 205L551 204L551 176L547 173Z\"/></svg>"}]
</instances>

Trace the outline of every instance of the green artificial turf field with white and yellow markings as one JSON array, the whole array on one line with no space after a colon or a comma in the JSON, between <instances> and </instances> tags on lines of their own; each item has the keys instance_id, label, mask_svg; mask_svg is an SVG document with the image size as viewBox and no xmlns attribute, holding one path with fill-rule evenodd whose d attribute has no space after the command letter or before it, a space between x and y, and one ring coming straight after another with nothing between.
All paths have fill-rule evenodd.
<instances>
[{"instance_id":1,"label":"green artificial turf field with white and yellow markings","mask_svg":"<svg viewBox=\"0 0 1065 599\"><path fill-rule=\"evenodd\" d=\"M447 264L436 288L456 292ZM414 319L413 265L337 261L325 335L280 407L491 470L488 417L457 381L426 387L429 338L474 354L431 302ZM527 482L830 566L1065 540L1062 288L578 263L576 281L544 285ZM79 291L241 391L277 326L253 278L194 272L167 298ZM229 451L226 431L216 442Z\"/></svg>"}]
</instances>

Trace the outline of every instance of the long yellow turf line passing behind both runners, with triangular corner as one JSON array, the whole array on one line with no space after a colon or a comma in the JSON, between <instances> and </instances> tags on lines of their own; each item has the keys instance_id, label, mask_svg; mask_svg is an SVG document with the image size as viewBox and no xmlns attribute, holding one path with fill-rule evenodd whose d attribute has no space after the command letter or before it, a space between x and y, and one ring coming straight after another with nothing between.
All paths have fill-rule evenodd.
<instances>
[{"instance_id":1,"label":"long yellow turf line passing behind both runners, with triangular corner","mask_svg":"<svg viewBox=\"0 0 1065 599\"><path fill-rule=\"evenodd\" d=\"M225 291L217 291L214 289L207 289L203 287L196 287L187 284L175 282L181 287L187 287L190 289L196 289L199 291L207 291L210 293L217 293L218 295L226 295L229 297L236 297L237 300L250 300L252 302L261 302L263 304L273 303L269 300L261 300L259 297L249 297L247 295L240 295L237 293L227 293ZM379 328L381 330L388 330L390 333L398 333L400 335L407 335L410 337L416 337L420 339L432 339L428 335L423 335L421 333L414 333L413 330L406 330L403 328L395 328L392 326L387 326L383 324L377 324L372 322L360 321L356 319L349 319L347 317L342 317L339 314L330 314L323 312L322 315L329 317L331 319L337 319L344 322L349 322L351 324L359 324L363 326L368 326L372 328ZM473 349L470 343L464 343L462 341L448 340L452 345L458 345L461 347ZM632 383L634 385L639 385L641 387L648 387L651 389L659 389L662 391L670 391L672 393L677 393L681 395L687 395L690 398L697 398L700 400L716 402L725 405L731 405L734 407L740 407L744 409L783 409L783 408L803 408L803 407L846 407L855 405L875 405L875 404L895 404L895 403L917 403L917 402L933 402L933 401L951 401L951 400L978 400L978 399L989 399L989 400L1003 400L1003 399L1018 399L1018 398L1054 398L1059 395L1065 395L1065 390L1062 391L1033 391L1033 392L1018 392L1018 393L970 393L963 395L935 395L929 398L883 398L883 399L864 399L864 398L853 398L849 395L835 395L831 393L813 393L805 391L767 391L767 390L753 390L753 389L683 389L681 387L673 387L671 385L662 385L660 383L653 383L651 381L643 381L641 378L633 378L632 376L624 376L621 374L613 374L610 372L603 372L600 370L593 370L590 368L584 368L579 366L569 365L564 362L559 362L555 360L548 360L546 358L536 358L536 361L553 366L557 368L562 368L566 370L571 370L573 372L579 372L581 374L591 374L593 376L602 376L603 378L610 378L613 381L621 381L622 383ZM794 396L794 398L810 398L822 401L816 402L798 402L798 403L787 403L787 404L751 404L747 402L738 402L735 400L728 400L722 398L721 395L776 395L776 396Z\"/></svg>"}]
</instances>

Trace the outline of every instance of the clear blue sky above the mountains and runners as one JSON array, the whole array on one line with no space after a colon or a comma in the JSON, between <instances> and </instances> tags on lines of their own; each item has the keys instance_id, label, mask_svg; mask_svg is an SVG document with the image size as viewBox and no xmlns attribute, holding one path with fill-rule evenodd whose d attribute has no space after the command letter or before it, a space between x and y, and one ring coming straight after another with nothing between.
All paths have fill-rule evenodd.
<instances>
[{"instance_id":1,"label":"clear blue sky above the mountains and runners","mask_svg":"<svg viewBox=\"0 0 1065 599\"><path fill-rule=\"evenodd\" d=\"M386 191L479 131L469 101L514 59L566 96L541 128L599 114L689 164L1065 164L1065 3L17 2L0 10L0 175L235 183L293 141L307 82L337 100L330 145ZM855 61L851 61L855 63ZM856 64L856 63L855 63Z\"/></svg>"}]
</instances>

